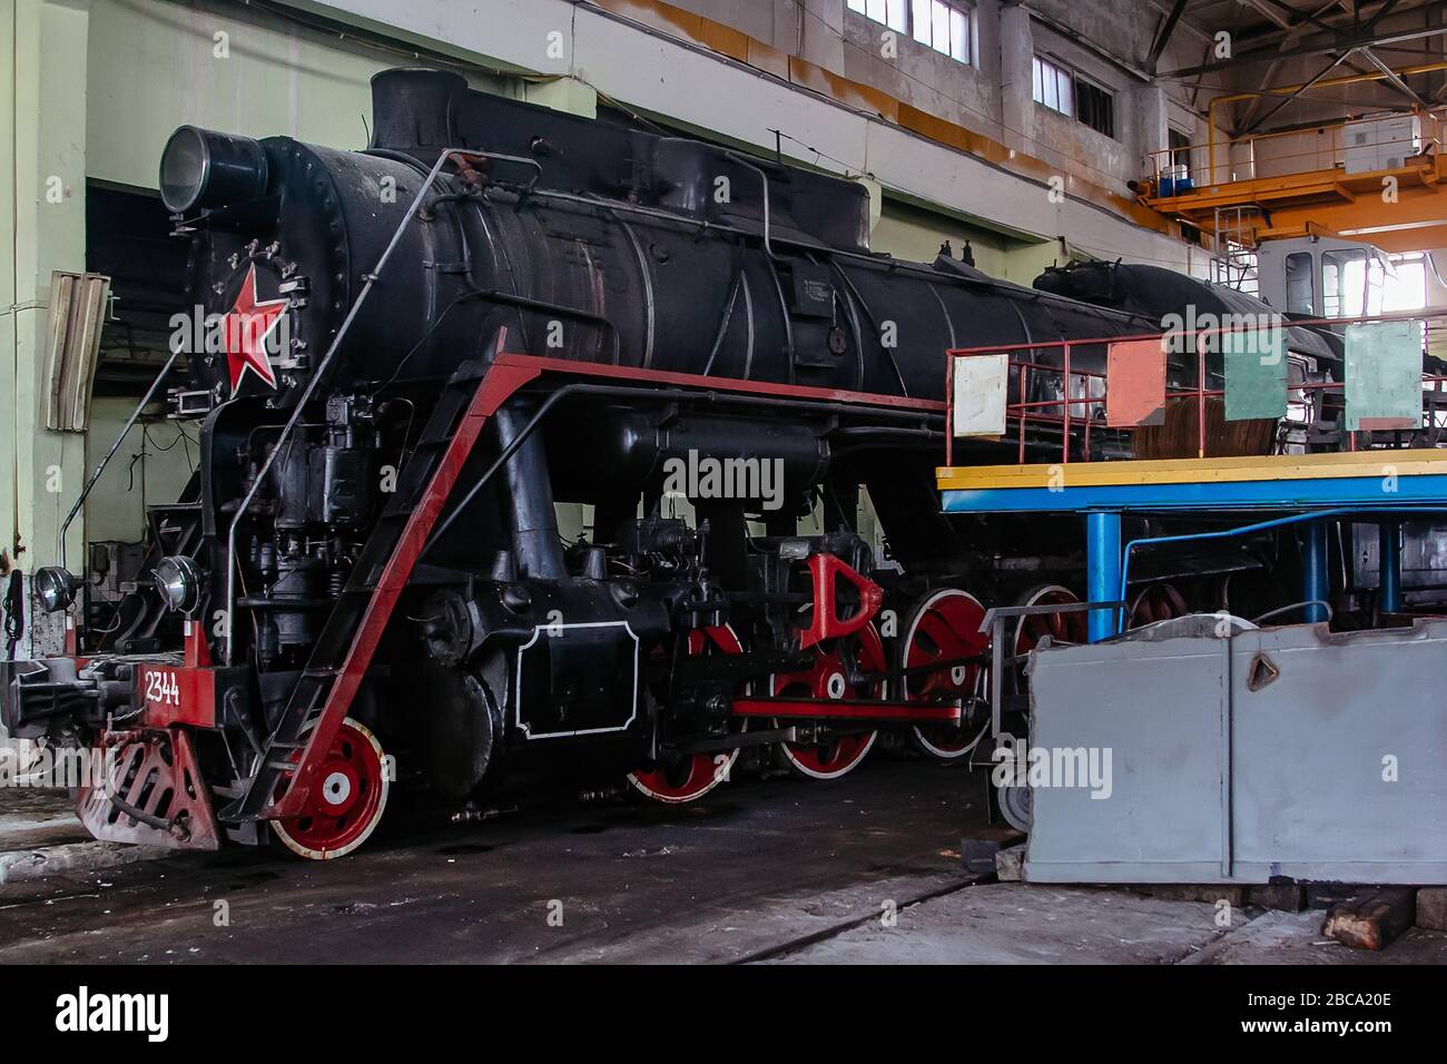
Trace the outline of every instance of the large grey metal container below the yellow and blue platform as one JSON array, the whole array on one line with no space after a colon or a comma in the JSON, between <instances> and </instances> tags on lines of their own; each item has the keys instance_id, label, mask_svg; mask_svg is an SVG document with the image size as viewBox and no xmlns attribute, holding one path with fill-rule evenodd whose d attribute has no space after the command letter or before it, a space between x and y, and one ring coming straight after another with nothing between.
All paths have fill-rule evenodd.
<instances>
[{"instance_id":1,"label":"large grey metal container below the yellow and blue platform","mask_svg":"<svg viewBox=\"0 0 1447 1064\"><path fill-rule=\"evenodd\" d=\"M1035 789L1026 880L1447 883L1447 620L1195 627L1036 651L1032 743L1110 772Z\"/></svg>"}]
</instances>

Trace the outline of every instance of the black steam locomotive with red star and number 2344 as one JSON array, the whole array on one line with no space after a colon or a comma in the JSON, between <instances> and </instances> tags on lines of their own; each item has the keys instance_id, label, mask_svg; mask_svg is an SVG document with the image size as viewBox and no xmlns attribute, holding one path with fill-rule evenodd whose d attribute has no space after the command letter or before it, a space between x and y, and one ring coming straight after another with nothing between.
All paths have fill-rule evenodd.
<instances>
[{"instance_id":1,"label":"black steam locomotive with red star and number 2344","mask_svg":"<svg viewBox=\"0 0 1447 1064\"><path fill-rule=\"evenodd\" d=\"M967 756L981 602L1072 598L1081 544L939 512L946 349L1152 333L1207 288L900 262L870 250L858 182L447 72L372 87L366 151L182 126L164 152L197 307L184 384L153 391L198 424L200 469L149 508L153 579L12 666L3 706L14 735L106 754L90 831L327 858L398 780L464 801L546 770L684 802L741 750L816 779L881 734ZM77 586L33 580L71 617Z\"/></svg>"}]
</instances>

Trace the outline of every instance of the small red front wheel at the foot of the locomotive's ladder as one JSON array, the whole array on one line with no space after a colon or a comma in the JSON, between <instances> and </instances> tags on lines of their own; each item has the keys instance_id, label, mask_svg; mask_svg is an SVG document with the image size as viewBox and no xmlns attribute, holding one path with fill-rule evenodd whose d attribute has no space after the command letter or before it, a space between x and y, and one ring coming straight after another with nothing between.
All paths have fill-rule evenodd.
<instances>
[{"instance_id":1,"label":"small red front wheel at the foot of the locomotive's ladder","mask_svg":"<svg viewBox=\"0 0 1447 1064\"><path fill-rule=\"evenodd\" d=\"M300 759L298 750L292 760ZM391 788L388 776L382 744L366 725L347 717L307 795L305 811L272 821L272 832L298 857L313 861L344 857L362 845L382 821ZM288 780L284 779L284 788Z\"/></svg>"}]
</instances>

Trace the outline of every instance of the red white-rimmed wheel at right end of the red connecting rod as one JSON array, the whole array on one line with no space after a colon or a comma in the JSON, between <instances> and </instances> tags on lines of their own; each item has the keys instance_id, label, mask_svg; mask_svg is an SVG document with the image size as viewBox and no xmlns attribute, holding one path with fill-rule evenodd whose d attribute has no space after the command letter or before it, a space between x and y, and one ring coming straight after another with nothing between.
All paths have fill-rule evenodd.
<instances>
[{"instance_id":1,"label":"red white-rimmed wheel at right end of the red connecting rod","mask_svg":"<svg viewBox=\"0 0 1447 1064\"><path fill-rule=\"evenodd\" d=\"M955 588L933 592L915 611L904 633L904 669L929 667L935 662L954 662L936 672L906 673L904 698L910 702L954 702L984 699L990 693L990 667L983 662L961 659L990 653L990 636L980 631L985 608L974 595ZM988 728L988 721L985 722ZM910 728L915 746L930 757L952 761L978 746L984 730L964 719L958 725L916 724Z\"/></svg>"}]
</instances>

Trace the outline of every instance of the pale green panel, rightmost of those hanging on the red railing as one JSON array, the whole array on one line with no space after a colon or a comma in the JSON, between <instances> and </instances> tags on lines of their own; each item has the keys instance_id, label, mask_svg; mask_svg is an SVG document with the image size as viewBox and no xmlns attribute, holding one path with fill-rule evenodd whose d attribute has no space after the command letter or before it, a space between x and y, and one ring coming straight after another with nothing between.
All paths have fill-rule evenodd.
<instances>
[{"instance_id":1,"label":"pale green panel, rightmost of those hanging on the red railing","mask_svg":"<svg viewBox=\"0 0 1447 1064\"><path fill-rule=\"evenodd\" d=\"M1422 424L1422 323L1347 326L1347 430Z\"/></svg>"}]
</instances>

